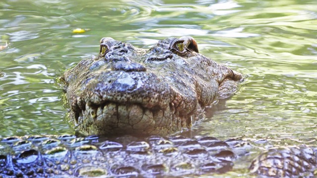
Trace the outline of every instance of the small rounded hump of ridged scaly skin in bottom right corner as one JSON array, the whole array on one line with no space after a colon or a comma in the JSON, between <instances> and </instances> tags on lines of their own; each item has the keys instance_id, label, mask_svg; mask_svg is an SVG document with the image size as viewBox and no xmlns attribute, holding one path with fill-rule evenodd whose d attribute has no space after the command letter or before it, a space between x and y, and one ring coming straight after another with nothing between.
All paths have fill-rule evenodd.
<instances>
[{"instance_id":1,"label":"small rounded hump of ridged scaly skin in bottom right corner","mask_svg":"<svg viewBox=\"0 0 317 178\"><path fill-rule=\"evenodd\" d=\"M255 158L249 169L264 177L316 178L316 166L317 147L301 145L271 148Z\"/></svg>"}]
</instances>

